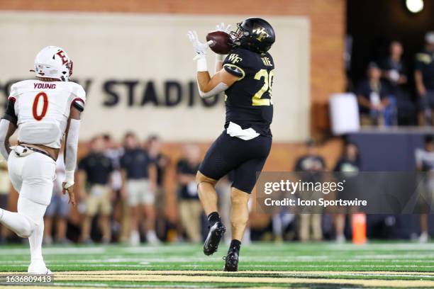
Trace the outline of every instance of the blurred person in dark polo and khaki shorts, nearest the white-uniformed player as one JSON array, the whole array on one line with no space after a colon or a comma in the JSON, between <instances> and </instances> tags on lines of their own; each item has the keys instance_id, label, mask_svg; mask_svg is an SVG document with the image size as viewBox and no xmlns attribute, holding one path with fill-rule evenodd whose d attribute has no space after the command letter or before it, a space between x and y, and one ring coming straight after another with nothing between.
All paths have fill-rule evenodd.
<instances>
[{"instance_id":1,"label":"blurred person in dark polo and khaki shorts, nearest the white-uniformed player","mask_svg":"<svg viewBox=\"0 0 434 289\"><path fill-rule=\"evenodd\" d=\"M82 241L91 244L91 221L99 213L99 225L101 226L102 242L109 244L111 241L111 199L113 191L110 187L113 164L111 159L104 155L106 149L104 138L94 137L90 143L90 152L84 157L78 166L79 196L84 200L85 216L82 225Z\"/></svg>"}]
</instances>

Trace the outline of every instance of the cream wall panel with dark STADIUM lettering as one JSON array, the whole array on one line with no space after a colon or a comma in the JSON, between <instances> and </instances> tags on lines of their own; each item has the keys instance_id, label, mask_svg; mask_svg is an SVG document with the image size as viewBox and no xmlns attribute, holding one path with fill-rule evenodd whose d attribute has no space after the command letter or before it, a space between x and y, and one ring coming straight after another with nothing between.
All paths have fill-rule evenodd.
<instances>
[{"instance_id":1,"label":"cream wall panel with dark STADIUM lettering","mask_svg":"<svg viewBox=\"0 0 434 289\"><path fill-rule=\"evenodd\" d=\"M0 55L17 55L12 43L26 43L19 45L20 57L0 58L0 66L9 67L0 76L0 95L6 96L18 79L33 77L28 69L35 51L55 44L74 60L72 81L87 91L80 140L110 130L118 140L133 131L140 137L157 134L167 142L209 142L223 130L224 96L199 97L186 33L196 29L205 39L216 23L236 23L242 17L0 12L0 35L10 43L0 47ZM296 16L267 19L281 39L272 47L277 63L273 137L277 142L303 141L309 135L309 22ZM215 57L207 56L211 68ZM206 122L198 125L198 120Z\"/></svg>"}]
</instances>

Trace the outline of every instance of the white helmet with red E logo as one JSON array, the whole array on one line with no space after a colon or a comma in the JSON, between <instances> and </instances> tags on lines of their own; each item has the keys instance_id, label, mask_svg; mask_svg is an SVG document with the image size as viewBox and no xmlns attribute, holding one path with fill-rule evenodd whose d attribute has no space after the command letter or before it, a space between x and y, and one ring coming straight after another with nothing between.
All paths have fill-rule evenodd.
<instances>
[{"instance_id":1,"label":"white helmet with red E logo","mask_svg":"<svg viewBox=\"0 0 434 289\"><path fill-rule=\"evenodd\" d=\"M72 75L72 60L62 47L44 47L35 58L35 75L68 81Z\"/></svg>"}]
</instances>

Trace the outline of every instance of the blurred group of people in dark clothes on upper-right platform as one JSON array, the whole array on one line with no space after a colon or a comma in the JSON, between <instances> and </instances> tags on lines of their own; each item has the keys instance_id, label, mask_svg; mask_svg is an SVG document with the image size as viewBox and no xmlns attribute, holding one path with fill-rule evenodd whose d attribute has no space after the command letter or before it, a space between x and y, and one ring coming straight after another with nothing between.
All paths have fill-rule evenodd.
<instances>
[{"instance_id":1,"label":"blurred group of people in dark clothes on upper-right platform","mask_svg":"<svg viewBox=\"0 0 434 289\"><path fill-rule=\"evenodd\" d=\"M350 88L362 125L434 125L434 32L426 33L414 63L406 64L403 55L401 42L392 41L389 55L369 62L366 79Z\"/></svg>"}]
</instances>

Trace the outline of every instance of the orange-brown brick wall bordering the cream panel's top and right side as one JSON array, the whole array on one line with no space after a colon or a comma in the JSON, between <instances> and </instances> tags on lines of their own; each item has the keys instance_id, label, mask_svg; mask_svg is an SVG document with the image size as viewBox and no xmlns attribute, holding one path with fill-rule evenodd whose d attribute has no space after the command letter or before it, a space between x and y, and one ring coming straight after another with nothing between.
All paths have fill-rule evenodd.
<instances>
[{"instance_id":1,"label":"orange-brown brick wall bordering the cream panel's top and right side","mask_svg":"<svg viewBox=\"0 0 434 289\"><path fill-rule=\"evenodd\" d=\"M6 11L306 16L311 23L310 88L313 130L328 127L325 103L331 93L343 91L345 86L343 62L345 9L345 0L0 0L0 10Z\"/></svg>"}]
</instances>

